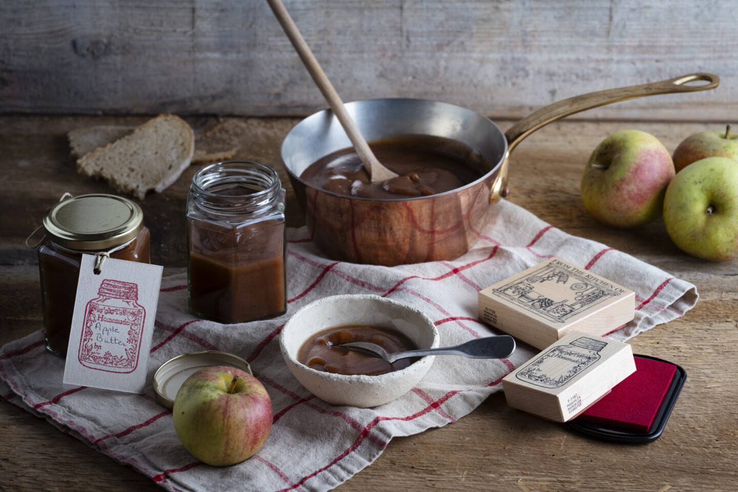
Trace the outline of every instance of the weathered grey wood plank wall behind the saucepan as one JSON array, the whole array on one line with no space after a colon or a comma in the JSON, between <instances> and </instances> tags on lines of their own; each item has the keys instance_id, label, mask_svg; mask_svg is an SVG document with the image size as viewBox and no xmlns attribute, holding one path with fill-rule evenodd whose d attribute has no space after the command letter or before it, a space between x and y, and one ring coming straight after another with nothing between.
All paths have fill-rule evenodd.
<instances>
[{"instance_id":1,"label":"weathered grey wood plank wall behind the saucepan","mask_svg":"<svg viewBox=\"0 0 738 492\"><path fill-rule=\"evenodd\" d=\"M713 72L592 117L734 118L738 1L286 0L343 99L497 117ZM325 107L262 0L0 0L0 112L300 115ZM646 111L646 113L644 113Z\"/></svg>"}]
</instances>

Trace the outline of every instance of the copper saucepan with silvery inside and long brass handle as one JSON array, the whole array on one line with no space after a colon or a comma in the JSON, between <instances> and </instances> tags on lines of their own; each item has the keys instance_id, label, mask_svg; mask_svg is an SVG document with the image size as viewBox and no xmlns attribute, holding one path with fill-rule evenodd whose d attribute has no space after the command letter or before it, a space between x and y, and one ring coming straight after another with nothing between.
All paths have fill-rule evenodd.
<instances>
[{"instance_id":1,"label":"copper saucepan with silvery inside and long brass handle","mask_svg":"<svg viewBox=\"0 0 738 492\"><path fill-rule=\"evenodd\" d=\"M687 85L695 80L707 83ZM395 266L453 260L474 246L494 204L508 193L508 157L526 136L570 114L635 97L714 89L720 79L696 73L571 97L535 111L503 133L492 120L448 103L418 99L361 100L345 105L368 141L418 136L446 142L452 153L486 162L483 176L438 195L371 199L337 195L300 175L318 159L351 147L330 110L303 119L282 142L281 156L317 247L334 260ZM450 142L450 143L449 143Z\"/></svg>"}]
</instances>

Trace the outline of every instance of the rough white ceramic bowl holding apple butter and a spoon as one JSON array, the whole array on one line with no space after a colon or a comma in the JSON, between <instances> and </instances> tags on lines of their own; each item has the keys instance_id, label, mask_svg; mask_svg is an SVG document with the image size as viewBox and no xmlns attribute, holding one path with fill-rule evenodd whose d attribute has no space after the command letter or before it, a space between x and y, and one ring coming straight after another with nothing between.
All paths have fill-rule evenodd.
<instances>
[{"instance_id":1,"label":"rough white ceramic bowl holding apple butter and a spoon","mask_svg":"<svg viewBox=\"0 0 738 492\"><path fill-rule=\"evenodd\" d=\"M438 347L438 330L430 318L401 302L372 295L339 295L311 302L286 322L279 343L289 370L318 398L360 408L382 405L413 388L433 364L435 357L425 356L392 373L343 375L314 370L297 361L297 350L314 333L355 324L395 328L420 348Z\"/></svg>"}]
</instances>

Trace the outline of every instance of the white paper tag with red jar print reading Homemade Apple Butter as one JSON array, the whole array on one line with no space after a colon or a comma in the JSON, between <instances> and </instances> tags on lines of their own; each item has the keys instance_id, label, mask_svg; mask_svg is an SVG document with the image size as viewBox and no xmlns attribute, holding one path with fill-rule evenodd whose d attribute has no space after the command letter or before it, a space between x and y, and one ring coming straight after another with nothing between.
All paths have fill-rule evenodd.
<instances>
[{"instance_id":1,"label":"white paper tag with red jar print reading Homemade Apple Butter","mask_svg":"<svg viewBox=\"0 0 738 492\"><path fill-rule=\"evenodd\" d=\"M162 270L159 265L83 254L66 352L64 384L142 392Z\"/></svg>"}]
</instances>

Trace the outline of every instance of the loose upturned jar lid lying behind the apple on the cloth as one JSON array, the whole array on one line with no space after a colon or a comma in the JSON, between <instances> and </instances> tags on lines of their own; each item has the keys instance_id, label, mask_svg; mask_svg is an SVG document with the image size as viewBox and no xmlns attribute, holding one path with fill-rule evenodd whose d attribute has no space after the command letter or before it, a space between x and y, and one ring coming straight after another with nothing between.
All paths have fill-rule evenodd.
<instances>
[{"instance_id":1,"label":"loose upturned jar lid lying behind the apple on the cloth","mask_svg":"<svg viewBox=\"0 0 738 492\"><path fill-rule=\"evenodd\" d=\"M246 371L250 375L251 366L243 358L232 353L218 350L201 350L200 352L183 353L170 358L154 373L154 392L159 403L172 408L179 388L184 380L196 370L212 366L230 366Z\"/></svg>"}]
</instances>

